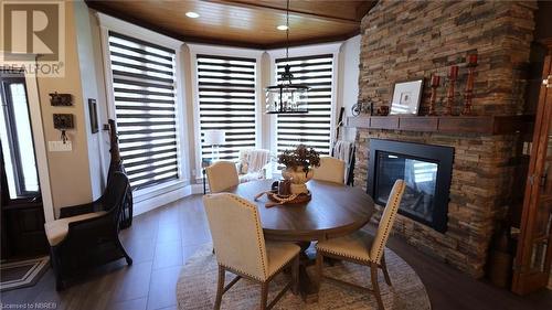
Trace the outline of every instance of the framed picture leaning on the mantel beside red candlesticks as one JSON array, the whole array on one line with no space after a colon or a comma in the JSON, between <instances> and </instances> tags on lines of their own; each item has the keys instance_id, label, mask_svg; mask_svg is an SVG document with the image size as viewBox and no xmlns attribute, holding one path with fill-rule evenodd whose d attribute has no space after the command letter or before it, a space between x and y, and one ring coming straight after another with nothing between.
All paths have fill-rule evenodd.
<instances>
[{"instance_id":1,"label":"framed picture leaning on the mantel beside red candlesticks","mask_svg":"<svg viewBox=\"0 0 552 310\"><path fill-rule=\"evenodd\" d=\"M423 78L396 82L391 101L391 115L417 115L422 100Z\"/></svg>"}]
</instances>

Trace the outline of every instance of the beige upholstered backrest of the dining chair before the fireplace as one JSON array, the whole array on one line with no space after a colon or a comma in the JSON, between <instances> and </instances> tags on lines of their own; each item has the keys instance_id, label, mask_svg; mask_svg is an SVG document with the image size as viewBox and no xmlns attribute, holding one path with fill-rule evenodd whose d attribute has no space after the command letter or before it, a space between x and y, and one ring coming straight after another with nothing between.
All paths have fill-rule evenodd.
<instances>
[{"instance_id":1,"label":"beige upholstered backrest of the dining chair before the fireplace","mask_svg":"<svg viewBox=\"0 0 552 310\"><path fill-rule=\"evenodd\" d=\"M389 195L388 204L383 210L380 225L378 226L378 232L375 232L374 242L370 249L370 258L378 264L380 263L389 235L393 228L393 223L395 222L396 212L399 211L399 205L401 204L405 188L406 183L403 180L396 180Z\"/></svg>"}]
</instances>

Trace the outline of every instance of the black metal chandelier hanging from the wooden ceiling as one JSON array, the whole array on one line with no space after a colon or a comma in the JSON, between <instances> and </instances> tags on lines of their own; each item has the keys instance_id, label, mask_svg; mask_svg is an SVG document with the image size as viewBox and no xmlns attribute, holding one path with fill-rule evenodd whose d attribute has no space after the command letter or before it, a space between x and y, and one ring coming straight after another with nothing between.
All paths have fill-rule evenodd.
<instances>
[{"instance_id":1,"label":"black metal chandelier hanging from the wooden ceiling","mask_svg":"<svg viewBox=\"0 0 552 310\"><path fill-rule=\"evenodd\" d=\"M265 88L266 113L267 114L299 114L308 113L308 90L309 87L300 84L293 84L289 66L289 0L286 8L286 66L282 73L279 83Z\"/></svg>"}]
</instances>

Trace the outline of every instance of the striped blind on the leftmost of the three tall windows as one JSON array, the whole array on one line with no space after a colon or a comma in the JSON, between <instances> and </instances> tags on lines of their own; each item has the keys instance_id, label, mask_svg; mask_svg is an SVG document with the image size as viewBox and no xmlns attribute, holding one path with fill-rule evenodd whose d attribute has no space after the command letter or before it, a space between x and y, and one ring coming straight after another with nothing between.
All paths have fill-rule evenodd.
<instances>
[{"instance_id":1,"label":"striped blind on the leftmost of the three tall windows","mask_svg":"<svg viewBox=\"0 0 552 310\"><path fill-rule=\"evenodd\" d=\"M174 50L109 32L120 156L130 185L178 179Z\"/></svg>"}]
</instances>

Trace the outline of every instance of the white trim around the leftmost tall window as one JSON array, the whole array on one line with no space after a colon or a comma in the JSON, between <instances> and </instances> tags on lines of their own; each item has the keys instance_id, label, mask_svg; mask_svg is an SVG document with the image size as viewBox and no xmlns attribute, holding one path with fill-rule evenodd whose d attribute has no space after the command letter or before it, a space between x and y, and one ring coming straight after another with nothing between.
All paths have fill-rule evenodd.
<instances>
[{"instance_id":1,"label":"white trim around the leftmost tall window","mask_svg":"<svg viewBox=\"0 0 552 310\"><path fill-rule=\"evenodd\" d=\"M176 88L176 118L178 119L179 125L183 128L180 128L177 125L177 150L179 153L178 158L178 170L179 170L179 179L174 181L164 182L162 184L149 186L142 190L135 191L132 193L132 197L136 203L146 202L147 200L158 197L162 194L170 193L171 191L181 189L190 183L190 170L188 167L189 159L189 143L188 137L185 135L188 128L188 122L185 121L187 114L187 105L184 103L184 83L183 83L183 68L182 68L182 54L181 46L183 42L174 40L163 34L159 34L157 32L150 31L148 29L138 26L136 24L131 24L119 19L112 18L109 15L103 13L96 13L99 21L100 26L100 35L102 35L102 52L104 58L104 75L105 75L105 90L106 90L106 101L107 101L107 116L112 119L116 118L115 113L115 97L113 92L113 76L112 76L112 63L109 58L109 31L115 31L120 34L125 34L131 38L136 38L139 40L144 40L146 42L150 42L153 44L158 44L161 46L166 46L174 50L174 88ZM182 196L184 195L184 191L182 192ZM180 196L179 196L180 197ZM178 199L178 197L177 197ZM160 200L163 201L163 200ZM148 203L148 205L151 205ZM148 206L148 210L151 207ZM137 214L141 213L138 211Z\"/></svg>"}]
</instances>

